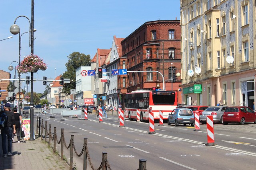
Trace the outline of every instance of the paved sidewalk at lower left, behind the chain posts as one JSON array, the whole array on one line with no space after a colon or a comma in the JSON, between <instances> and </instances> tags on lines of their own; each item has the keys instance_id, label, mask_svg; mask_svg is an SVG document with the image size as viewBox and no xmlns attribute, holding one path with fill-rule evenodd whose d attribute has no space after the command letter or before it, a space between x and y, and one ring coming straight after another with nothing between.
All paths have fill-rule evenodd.
<instances>
[{"instance_id":1,"label":"paved sidewalk at lower left, behind the chain posts","mask_svg":"<svg viewBox=\"0 0 256 170\"><path fill-rule=\"evenodd\" d=\"M3 158L0 137L0 170L69 170L68 164L54 154L52 148L48 149L48 143L41 141L40 137L36 136L34 141L20 141L18 143L15 136L12 143L13 156Z\"/></svg>"}]
</instances>

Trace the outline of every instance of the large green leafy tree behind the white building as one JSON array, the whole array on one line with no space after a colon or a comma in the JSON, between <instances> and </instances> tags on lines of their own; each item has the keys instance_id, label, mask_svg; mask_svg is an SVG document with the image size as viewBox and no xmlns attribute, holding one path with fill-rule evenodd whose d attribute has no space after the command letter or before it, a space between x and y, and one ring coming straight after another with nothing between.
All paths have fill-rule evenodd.
<instances>
[{"instance_id":1,"label":"large green leafy tree behind the white building","mask_svg":"<svg viewBox=\"0 0 256 170\"><path fill-rule=\"evenodd\" d=\"M62 92L70 94L71 89L76 89L76 69L80 66L90 66L90 55L74 52L68 56L68 63L65 64L67 71L63 73L64 78L70 78L70 83L64 83Z\"/></svg>"}]
</instances>

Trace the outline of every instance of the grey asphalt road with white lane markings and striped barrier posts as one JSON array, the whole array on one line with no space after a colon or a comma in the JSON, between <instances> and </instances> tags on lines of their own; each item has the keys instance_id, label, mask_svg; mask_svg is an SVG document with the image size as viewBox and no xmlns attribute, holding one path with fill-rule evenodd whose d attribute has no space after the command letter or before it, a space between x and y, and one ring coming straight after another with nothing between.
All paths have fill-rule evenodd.
<instances>
[{"instance_id":1,"label":"grey asphalt road with white lane markings and striped barrier posts","mask_svg":"<svg viewBox=\"0 0 256 170\"><path fill-rule=\"evenodd\" d=\"M156 134L148 134L149 123L125 119L125 127L119 127L118 117L113 115L108 115L109 118L104 118L101 123L95 115L88 115L88 120L65 117L65 121L60 121L60 114L54 114L54 118L49 118L50 115L40 116L52 125L52 133L56 127L58 140L62 128L67 145L70 136L74 135L78 154L84 138L88 138L88 151L95 169L100 166L102 152L108 153L112 170L138 169L139 159L147 160L147 170L254 170L256 167L254 123L214 124L216 146L206 146L206 125L200 125L202 131L196 132L190 125L175 127L164 123L164 126L158 126L155 122ZM60 144L57 144L57 150L60 152ZM70 150L64 148L64 155L69 158ZM74 154L74 162L78 169L82 169L83 156ZM88 169L91 169L89 162Z\"/></svg>"}]
</instances>

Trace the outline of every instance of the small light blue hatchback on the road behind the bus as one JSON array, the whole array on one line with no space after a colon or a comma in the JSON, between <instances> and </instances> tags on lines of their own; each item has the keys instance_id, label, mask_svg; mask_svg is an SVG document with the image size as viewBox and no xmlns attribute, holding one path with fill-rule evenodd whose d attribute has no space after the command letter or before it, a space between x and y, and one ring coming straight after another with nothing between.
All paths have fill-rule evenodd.
<instances>
[{"instance_id":1,"label":"small light blue hatchback on the road behind the bus","mask_svg":"<svg viewBox=\"0 0 256 170\"><path fill-rule=\"evenodd\" d=\"M180 124L186 126L187 124L190 124L193 127L195 125L195 116L193 114L193 111L187 108L174 109L172 113L169 113L167 119L168 125L171 125L172 123L175 126L178 126Z\"/></svg>"}]
</instances>

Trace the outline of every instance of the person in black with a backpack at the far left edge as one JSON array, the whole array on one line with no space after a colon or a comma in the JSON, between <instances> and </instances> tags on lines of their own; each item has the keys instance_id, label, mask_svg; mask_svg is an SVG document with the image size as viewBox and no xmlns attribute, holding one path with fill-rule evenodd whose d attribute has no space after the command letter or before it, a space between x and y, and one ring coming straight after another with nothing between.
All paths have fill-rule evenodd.
<instances>
[{"instance_id":1,"label":"person in black with a backpack at the far left edge","mask_svg":"<svg viewBox=\"0 0 256 170\"><path fill-rule=\"evenodd\" d=\"M6 158L7 155L12 156L12 133L16 133L14 113L10 111L10 107L11 105L6 103L4 105L4 111L0 111L0 117L2 117L4 114L7 116L7 121L4 127L1 128L2 150L4 158ZM6 148L6 135L8 139L8 149Z\"/></svg>"}]
</instances>

